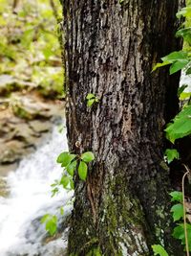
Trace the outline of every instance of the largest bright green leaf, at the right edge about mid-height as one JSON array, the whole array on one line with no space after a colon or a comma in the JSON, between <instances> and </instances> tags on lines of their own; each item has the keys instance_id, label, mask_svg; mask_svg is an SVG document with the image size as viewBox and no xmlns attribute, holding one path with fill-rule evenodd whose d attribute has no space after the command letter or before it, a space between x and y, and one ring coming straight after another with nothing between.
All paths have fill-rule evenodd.
<instances>
[{"instance_id":1,"label":"largest bright green leaf, at the right edge about mid-height","mask_svg":"<svg viewBox=\"0 0 191 256\"><path fill-rule=\"evenodd\" d=\"M172 143L191 134L191 105L185 106L173 119L173 123L168 124L165 131L167 139Z\"/></svg>"}]
</instances>

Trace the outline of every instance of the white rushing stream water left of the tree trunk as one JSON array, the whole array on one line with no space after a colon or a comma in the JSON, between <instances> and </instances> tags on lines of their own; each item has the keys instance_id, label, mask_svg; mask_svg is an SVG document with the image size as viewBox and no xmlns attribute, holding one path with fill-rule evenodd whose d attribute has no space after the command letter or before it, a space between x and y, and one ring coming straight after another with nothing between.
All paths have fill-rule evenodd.
<instances>
[{"instance_id":1,"label":"white rushing stream water left of the tree trunk","mask_svg":"<svg viewBox=\"0 0 191 256\"><path fill-rule=\"evenodd\" d=\"M8 198L0 197L0 256L63 255L63 238L42 245L46 232L40 219L46 213L59 214L59 207L65 204L65 212L71 210L67 201L72 193L62 190L51 197L51 184L62 173L56 157L66 150L66 134L53 128L44 146L22 160L18 169L6 177L11 194Z\"/></svg>"}]
</instances>

